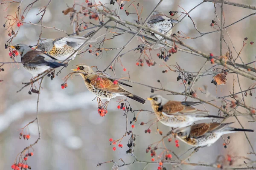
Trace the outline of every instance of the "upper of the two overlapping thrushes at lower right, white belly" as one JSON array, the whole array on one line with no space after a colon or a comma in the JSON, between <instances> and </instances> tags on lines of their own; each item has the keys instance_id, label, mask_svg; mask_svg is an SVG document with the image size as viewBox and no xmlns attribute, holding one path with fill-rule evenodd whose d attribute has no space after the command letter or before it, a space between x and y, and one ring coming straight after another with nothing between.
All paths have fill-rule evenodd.
<instances>
[{"instance_id":1,"label":"upper of the two overlapping thrushes at lower right, white belly","mask_svg":"<svg viewBox=\"0 0 256 170\"><path fill-rule=\"evenodd\" d=\"M172 128L186 127L198 120L224 119L221 116L209 115L207 114L208 111L201 111L191 107L191 105L201 102L168 101L158 94L151 95L148 100L151 102L151 107L157 119L164 125Z\"/></svg>"}]
</instances>

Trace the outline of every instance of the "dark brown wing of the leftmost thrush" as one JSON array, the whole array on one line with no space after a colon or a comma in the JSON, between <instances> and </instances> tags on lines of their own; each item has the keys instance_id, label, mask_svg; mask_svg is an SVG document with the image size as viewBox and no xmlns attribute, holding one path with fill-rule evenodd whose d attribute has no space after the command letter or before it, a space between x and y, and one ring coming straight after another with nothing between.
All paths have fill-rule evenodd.
<instances>
[{"instance_id":1,"label":"dark brown wing of the leftmost thrush","mask_svg":"<svg viewBox=\"0 0 256 170\"><path fill-rule=\"evenodd\" d=\"M40 66L49 65L49 62L54 62L55 58L45 54L42 51L32 50L27 52L22 58L21 62L26 66Z\"/></svg>"}]
</instances>

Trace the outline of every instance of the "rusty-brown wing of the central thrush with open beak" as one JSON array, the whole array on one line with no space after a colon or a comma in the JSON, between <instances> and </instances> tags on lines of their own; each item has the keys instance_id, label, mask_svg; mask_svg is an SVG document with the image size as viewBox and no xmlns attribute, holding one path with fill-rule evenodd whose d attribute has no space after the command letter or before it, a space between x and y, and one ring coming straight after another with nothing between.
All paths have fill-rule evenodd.
<instances>
[{"instance_id":1,"label":"rusty-brown wing of the central thrush with open beak","mask_svg":"<svg viewBox=\"0 0 256 170\"><path fill-rule=\"evenodd\" d=\"M114 85L113 81L105 77L101 77L99 80L97 80L98 77L99 76L97 74L87 75L87 79L90 79L90 84L93 85L94 88L113 93L120 93L122 95L130 95L130 93L119 84Z\"/></svg>"}]
</instances>

